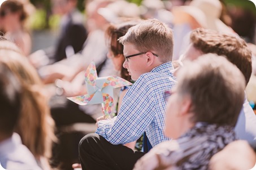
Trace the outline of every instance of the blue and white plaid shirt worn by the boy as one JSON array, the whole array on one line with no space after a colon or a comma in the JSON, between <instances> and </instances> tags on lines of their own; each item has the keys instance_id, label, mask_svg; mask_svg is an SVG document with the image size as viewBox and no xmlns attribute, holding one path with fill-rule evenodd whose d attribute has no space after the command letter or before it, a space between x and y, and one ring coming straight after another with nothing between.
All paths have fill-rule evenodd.
<instances>
[{"instance_id":1,"label":"blue and white plaid shirt worn by the boy","mask_svg":"<svg viewBox=\"0 0 256 170\"><path fill-rule=\"evenodd\" d=\"M126 144L146 132L150 144L170 140L164 136L166 101L163 92L175 86L171 62L142 74L123 98L119 114L111 120L100 120L96 133L111 144Z\"/></svg>"}]
</instances>

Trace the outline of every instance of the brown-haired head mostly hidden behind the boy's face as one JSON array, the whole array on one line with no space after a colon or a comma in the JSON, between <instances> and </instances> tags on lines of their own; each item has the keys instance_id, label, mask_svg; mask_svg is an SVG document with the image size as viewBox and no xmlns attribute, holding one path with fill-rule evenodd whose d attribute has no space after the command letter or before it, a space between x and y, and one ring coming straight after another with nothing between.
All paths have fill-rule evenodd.
<instances>
[{"instance_id":1,"label":"brown-haired head mostly hidden behind the boy's face","mask_svg":"<svg viewBox=\"0 0 256 170\"><path fill-rule=\"evenodd\" d=\"M118 41L118 38L122 37L127 33L127 30L138 24L139 21L127 21L122 24L111 24L106 30L106 42L109 46L109 52L107 57L112 60L115 69L121 71L121 77L126 80L131 80L131 75L129 75L127 69L123 68L124 46Z\"/></svg>"}]
</instances>

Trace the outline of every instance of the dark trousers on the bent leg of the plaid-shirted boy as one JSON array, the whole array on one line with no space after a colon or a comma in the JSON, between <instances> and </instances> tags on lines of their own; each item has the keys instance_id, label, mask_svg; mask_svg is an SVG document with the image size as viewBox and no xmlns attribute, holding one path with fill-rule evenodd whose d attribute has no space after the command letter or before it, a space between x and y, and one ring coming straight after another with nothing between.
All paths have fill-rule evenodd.
<instances>
[{"instance_id":1,"label":"dark trousers on the bent leg of the plaid-shirted boy","mask_svg":"<svg viewBox=\"0 0 256 170\"><path fill-rule=\"evenodd\" d=\"M86 135L79 143L79 158L83 170L133 169L144 154L123 145L112 145L96 133Z\"/></svg>"}]
</instances>

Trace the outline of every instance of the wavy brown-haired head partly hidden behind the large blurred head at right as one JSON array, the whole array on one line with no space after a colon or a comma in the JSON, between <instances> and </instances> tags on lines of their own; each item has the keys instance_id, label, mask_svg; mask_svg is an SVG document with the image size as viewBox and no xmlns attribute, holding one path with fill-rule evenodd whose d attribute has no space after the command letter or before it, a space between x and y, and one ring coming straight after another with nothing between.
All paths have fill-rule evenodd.
<instances>
[{"instance_id":1,"label":"wavy brown-haired head partly hidden behind the large blurred head at right","mask_svg":"<svg viewBox=\"0 0 256 170\"><path fill-rule=\"evenodd\" d=\"M244 74L246 84L249 82L252 71L251 51L242 38L209 29L196 29L190 34L190 45L184 58L194 60L203 53L227 57Z\"/></svg>"}]
</instances>

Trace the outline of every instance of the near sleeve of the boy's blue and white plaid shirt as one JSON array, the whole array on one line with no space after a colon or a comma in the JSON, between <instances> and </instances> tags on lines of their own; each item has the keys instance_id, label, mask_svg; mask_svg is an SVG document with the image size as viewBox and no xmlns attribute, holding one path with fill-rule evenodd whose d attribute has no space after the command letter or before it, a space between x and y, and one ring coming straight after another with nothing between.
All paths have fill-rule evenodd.
<instances>
[{"instance_id":1,"label":"near sleeve of the boy's blue and white plaid shirt","mask_svg":"<svg viewBox=\"0 0 256 170\"><path fill-rule=\"evenodd\" d=\"M114 145L137 140L154 119L152 89L141 75L124 96L116 119L99 121L96 133Z\"/></svg>"}]
</instances>

